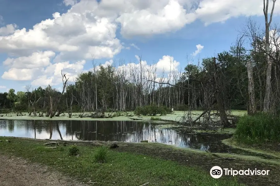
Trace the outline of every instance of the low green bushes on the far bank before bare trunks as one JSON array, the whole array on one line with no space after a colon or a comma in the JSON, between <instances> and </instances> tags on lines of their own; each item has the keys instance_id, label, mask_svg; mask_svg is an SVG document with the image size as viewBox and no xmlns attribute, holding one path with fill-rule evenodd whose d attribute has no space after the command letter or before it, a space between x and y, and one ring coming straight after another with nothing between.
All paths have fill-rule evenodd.
<instances>
[{"instance_id":1,"label":"low green bushes on the far bank before bare trunks","mask_svg":"<svg viewBox=\"0 0 280 186\"><path fill-rule=\"evenodd\" d=\"M156 116L156 114L161 114L161 116L166 115L167 113L171 113L171 109L164 106L152 103L150 105L137 107L134 111L134 114L137 116L143 115L143 116Z\"/></svg>"}]
</instances>

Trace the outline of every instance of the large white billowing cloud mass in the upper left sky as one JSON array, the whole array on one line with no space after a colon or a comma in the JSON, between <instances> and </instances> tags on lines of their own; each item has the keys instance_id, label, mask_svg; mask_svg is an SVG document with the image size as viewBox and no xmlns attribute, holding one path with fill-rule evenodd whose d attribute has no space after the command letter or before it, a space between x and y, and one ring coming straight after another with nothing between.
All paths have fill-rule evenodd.
<instances>
[{"instance_id":1,"label":"large white billowing cloud mass in the upper left sky","mask_svg":"<svg viewBox=\"0 0 280 186\"><path fill-rule=\"evenodd\" d=\"M79 6L82 10L76 9ZM97 16L94 9L77 3L67 13L55 12L53 19L42 20L32 29L11 29L12 34L0 36L0 52L22 56L38 50L54 51L60 61L91 59L92 55L112 58L122 49L116 38L117 24Z\"/></svg>"}]
</instances>

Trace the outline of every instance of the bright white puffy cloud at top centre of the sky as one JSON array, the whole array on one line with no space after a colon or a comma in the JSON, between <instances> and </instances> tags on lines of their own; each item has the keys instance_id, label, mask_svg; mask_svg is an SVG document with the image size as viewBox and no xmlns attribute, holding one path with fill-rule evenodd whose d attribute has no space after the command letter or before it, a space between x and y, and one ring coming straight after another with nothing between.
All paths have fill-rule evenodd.
<instances>
[{"instance_id":1,"label":"bright white puffy cloud at top centre of the sky","mask_svg":"<svg viewBox=\"0 0 280 186\"><path fill-rule=\"evenodd\" d=\"M195 15L188 14L176 0L130 3L131 11L116 19L121 24L121 34L127 38L175 31L195 20Z\"/></svg>"}]
</instances>

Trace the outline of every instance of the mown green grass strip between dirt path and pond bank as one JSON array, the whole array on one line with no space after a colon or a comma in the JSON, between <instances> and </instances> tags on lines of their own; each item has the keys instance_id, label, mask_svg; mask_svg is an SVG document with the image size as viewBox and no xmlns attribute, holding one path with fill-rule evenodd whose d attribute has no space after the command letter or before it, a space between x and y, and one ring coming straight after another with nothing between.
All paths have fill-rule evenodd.
<instances>
[{"instance_id":1,"label":"mown green grass strip between dirt path and pond bank","mask_svg":"<svg viewBox=\"0 0 280 186\"><path fill-rule=\"evenodd\" d=\"M5 139L11 142L7 143ZM0 152L28 158L53 169L78 177L83 182L103 186L139 186L146 182L156 186L236 186L234 178L213 179L208 171L177 162L133 153L108 151L106 163L95 162L97 147L77 145L79 157L69 156L69 147L45 148L43 141L0 137Z\"/></svg>"}]
</instances>

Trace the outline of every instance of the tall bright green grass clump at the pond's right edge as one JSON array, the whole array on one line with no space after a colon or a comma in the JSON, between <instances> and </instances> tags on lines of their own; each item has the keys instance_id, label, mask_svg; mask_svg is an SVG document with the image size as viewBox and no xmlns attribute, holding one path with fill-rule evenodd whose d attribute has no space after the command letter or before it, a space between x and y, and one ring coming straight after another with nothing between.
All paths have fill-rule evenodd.
<instances>
[{"instance_id":1,"label":"tall bright green grass clump at the pond's right edge","mask_svg":"<svg viewBox=\"0 0 280 186\"><path fill-rule=\"evenodd\" d=\"M235 137L252 141L280 141L280 117L269 113L242 116L237 122Z\"/></svg>"}]
</instances>

